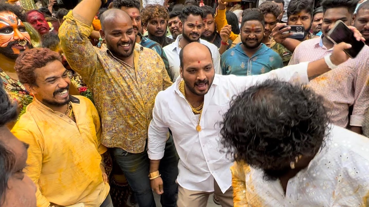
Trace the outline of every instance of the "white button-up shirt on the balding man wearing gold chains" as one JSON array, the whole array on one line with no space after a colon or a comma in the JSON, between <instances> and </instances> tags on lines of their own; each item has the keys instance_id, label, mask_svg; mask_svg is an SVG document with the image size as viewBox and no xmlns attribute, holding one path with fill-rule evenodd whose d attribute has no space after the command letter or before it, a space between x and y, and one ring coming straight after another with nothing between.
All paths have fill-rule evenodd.
<instances>
[{"instance_id":1,"label":"white button-up shirt on the balding man wearing gold chains","mask_svg":"<svg viewBox=\"0 0 369 207\"><path fill-rule=\"evenodd\" d=\"M172 86L156 96L148 130L149 158L158 160L164 156L170 128L180 158L177 178L179 185L188 190L213 192L215 179L224 193L231 187L232 162L220 143L219 122L229 109L232 96L269 78L308 83L307 66L308 63L300 63L259 76L215 74L213 84L204 96L200 132L196 130L198 117L193 114L186 98L179 91L182 78L178 77Z\"/></svg>"}]
</instances>

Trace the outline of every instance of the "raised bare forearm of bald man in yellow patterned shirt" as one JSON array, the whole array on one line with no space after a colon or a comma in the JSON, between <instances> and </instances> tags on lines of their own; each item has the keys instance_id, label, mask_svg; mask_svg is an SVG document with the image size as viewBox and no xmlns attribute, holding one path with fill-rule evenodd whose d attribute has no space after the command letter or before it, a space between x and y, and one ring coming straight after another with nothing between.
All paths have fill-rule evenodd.
<instances>
[{"instance_id":1,"label":"raised bare forearm of bald man in yellow patterned shirt","mask_svg":"<svg viewBox=\"0 0 369 207\"><path fill-rule=\"evenodd\" d=\"M83 0L73 9L73 16L80 21L93 21L101 6L101 0Z\"/></svg>"}]
</instances>

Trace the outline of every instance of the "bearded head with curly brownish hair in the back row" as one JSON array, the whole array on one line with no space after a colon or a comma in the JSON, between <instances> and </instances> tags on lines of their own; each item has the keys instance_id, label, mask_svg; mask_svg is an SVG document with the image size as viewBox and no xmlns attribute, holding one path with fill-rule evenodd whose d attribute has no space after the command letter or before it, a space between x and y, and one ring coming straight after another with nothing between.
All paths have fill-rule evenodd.
<instances>
[{"instance_id":1,"label":"bearded head with curly brownish hair in the back row","mask_svg":"<svg viewBox=\"0 0 369 207\"><path fill-rule=\"evenodd\" d=\"M148 32L147 38L159 43L162 47L175 41L166 36L169 13L164 6L159 4L146 5L141 13L141 19Z\"/></svg>"}]
</instances>

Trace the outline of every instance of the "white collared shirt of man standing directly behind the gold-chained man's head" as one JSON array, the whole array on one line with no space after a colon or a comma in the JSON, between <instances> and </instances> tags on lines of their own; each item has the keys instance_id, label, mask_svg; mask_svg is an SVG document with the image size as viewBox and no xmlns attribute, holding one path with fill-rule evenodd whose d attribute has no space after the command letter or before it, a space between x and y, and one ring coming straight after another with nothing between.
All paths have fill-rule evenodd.
<instances>
[{"instance_id":1,"label":"white collared shirt of man standing directly behind the gold-chained man's head","mask_svg":"<svg viewBox=\"0 0 369 207\"><path fill-rule=\"evenodd\" d=\"M171 78L173 78L172 80L176 80L177 77L180 75L179 74L179 65L180 65L179 52L181 51L181 49L179 48L179 41L182 38L183 38L182 35L178 35L175 42L163 48L166 54L166 57L168 57L170 73L172 74ZM222 71L220 69L220 54L219 54L217 46L203 39L199 39L199 42L203 45L206 45L210 49L211 56L213 57L215 73L222 74Z\"/></svg>"}]
</instances>

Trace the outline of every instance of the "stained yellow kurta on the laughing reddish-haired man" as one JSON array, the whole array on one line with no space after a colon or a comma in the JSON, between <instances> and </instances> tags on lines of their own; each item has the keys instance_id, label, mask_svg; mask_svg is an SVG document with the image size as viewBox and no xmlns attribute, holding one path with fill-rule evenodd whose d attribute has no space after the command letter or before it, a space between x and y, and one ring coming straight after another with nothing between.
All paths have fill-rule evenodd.
<instances>
[{"instance_id":1,"label":"stained yellow kurta on the laughing reddish-haired man","mask_svg":"<svg viewBox=\"0 0 369 207\"><path fill-rule=\"evenodd\" d=\"M71 97L76 123L37 99L27 106L12 129L30 145L26 174L37 186L37 207L50 203L68 206L85 203L98 207L109 193L100 169L100 119L92 102Z\"/></svg>"}]
</instances>

